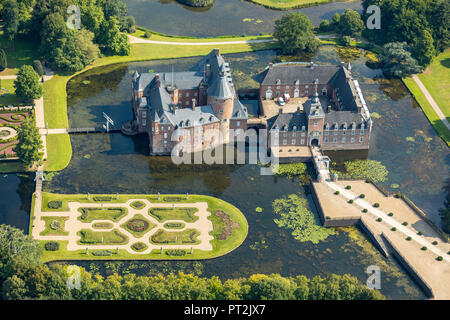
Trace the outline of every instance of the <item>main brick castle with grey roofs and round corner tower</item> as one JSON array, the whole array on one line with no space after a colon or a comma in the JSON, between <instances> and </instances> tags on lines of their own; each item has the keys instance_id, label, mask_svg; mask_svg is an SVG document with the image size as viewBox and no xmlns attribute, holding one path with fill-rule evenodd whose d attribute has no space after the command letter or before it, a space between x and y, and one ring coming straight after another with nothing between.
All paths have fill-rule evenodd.
<instances>
[{"instance_id":1,"label":"main brick castle with grey roofs and round corner tower","mask_svg":"<svg viewBox=\"0 0 450 320\"><path fill-rule=\"evenodd\" d=\"M135 72L132 104L138 132L147 133L152 155L201 151L227 143L230 130L247 129L229 64L214 49L192 71Z\"/></svg>"}]
</instances>

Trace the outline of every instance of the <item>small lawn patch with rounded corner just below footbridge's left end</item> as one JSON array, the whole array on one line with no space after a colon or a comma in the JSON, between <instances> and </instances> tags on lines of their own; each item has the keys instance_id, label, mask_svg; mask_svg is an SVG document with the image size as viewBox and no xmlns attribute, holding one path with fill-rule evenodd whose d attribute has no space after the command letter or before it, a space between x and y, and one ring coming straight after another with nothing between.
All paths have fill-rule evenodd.
<instances>
[{"instance_id":1,"label":"small lawn patch with rounded corner just below footbridge's left end","mask_svg":"<svg viewBox=\"0 0 450 320\"><path fill-rule=\"evenodd\" d=\"M47 161L45 171L60 171L67 167L72 158L72 145L68 134L49 134L47 140Z\"/></svg>"}]
</instances>

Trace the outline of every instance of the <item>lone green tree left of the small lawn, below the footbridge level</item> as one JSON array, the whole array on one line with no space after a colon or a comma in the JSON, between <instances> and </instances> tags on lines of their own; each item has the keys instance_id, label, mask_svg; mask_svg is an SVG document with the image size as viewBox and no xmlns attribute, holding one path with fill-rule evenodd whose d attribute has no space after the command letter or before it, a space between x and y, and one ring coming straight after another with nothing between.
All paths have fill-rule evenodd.
<instances>
[{"instance_id":1,"label":"lone green tree left of the small lawn, below the footbridge level","mask_svg":"<svg viewBox=\"0 0 450 320\"><path fill-rule=\"evenodd\" d=\"M42 141L39 129L36 126L34 117L28 117L22 122L17 132L19 142L14 147L14 151L20 161L26 166L31 167L35 162L42 160Z\"/></svg>"}]
</instances>

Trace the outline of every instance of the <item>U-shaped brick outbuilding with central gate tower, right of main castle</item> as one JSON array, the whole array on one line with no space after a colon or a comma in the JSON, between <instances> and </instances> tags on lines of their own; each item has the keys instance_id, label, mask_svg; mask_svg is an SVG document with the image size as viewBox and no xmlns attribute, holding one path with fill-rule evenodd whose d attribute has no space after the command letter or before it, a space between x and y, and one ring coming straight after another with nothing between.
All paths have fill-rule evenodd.
<instances>
[{"instance_id":1,"label":"U-shaped brick outbuilding with central gate tower, right of main castle","mask_svg":"<svg viewBox=\"0 0 450 320\"><path fill-rule=\"evenodd\" d=\"M351 65L269 65L259 99L305 97L297 112L267 120L269 145L320 146L322 150L368 149L372 120ZM293 149L293 148L292 148Z\"/></svg>"}]
</instances>

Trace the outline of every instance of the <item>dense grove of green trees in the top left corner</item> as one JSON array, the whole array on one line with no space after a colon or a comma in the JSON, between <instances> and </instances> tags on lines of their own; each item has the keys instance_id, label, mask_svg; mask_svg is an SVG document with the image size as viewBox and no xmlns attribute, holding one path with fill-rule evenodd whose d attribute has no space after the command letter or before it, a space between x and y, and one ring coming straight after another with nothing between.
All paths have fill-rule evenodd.
<instances>
[{"instance_id":1,"label":"dense grove of green trees in the top left corner","mask_svg":"<svg viewBox=\"0 0 450 320\"><path fill-rule=\"evenodd\" d=\"M76 5L81 29L67 26ZM78 71L100 54L128 55L130 44L123 31L134 32L122 0L6 0L1 11L5 36L38 40L42 56L56 70Z\"/></svg>"}]
</instances>

